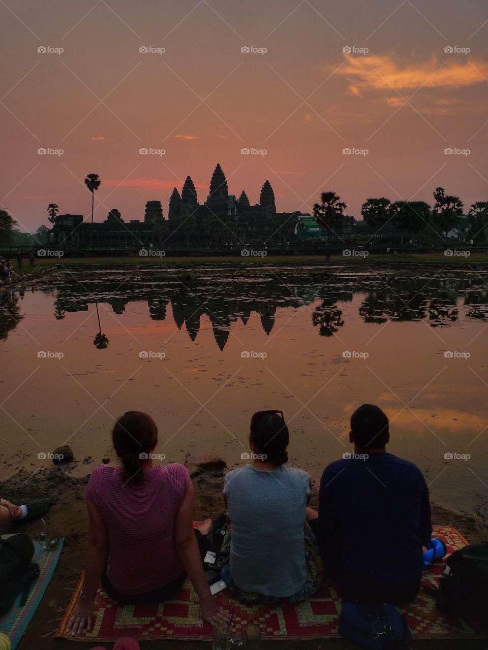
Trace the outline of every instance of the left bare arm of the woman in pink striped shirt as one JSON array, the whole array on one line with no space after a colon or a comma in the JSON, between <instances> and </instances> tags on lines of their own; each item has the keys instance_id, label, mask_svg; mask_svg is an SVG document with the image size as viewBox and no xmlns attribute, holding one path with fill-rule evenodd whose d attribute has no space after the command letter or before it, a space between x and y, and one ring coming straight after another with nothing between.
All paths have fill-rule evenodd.
<instances>
[{"instance_id":1,"label":"left bare arm of the woman in pink striped shirt","mask_svg":"<svg viewBox=\"0 0 488 650\"><path fill-rule=\"evenodd\" d=\"M71 630L72 634L79 634L85 625L88 630L92 626L96 590L109 553L109 535L102 515L96 505L88 499L87 508L88 517L90 517L90 531L88 532L83 587L77 606L66 627L66 632Z\"/></svg>"}]
</instances>

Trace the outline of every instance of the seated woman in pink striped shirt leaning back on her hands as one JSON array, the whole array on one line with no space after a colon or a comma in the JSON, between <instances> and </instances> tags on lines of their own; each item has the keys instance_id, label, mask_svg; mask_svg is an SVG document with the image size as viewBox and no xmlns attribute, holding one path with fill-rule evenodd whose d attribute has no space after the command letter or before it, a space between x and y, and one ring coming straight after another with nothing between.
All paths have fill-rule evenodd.
<instances>
[{"instance_id":1,"label":"seated woman in pink striped shirt leaning back on her hands","mask_svg":"<svg viewBox=\"0 0 488 650\"><path fill-rule=\"evenodd\" d=\"M157 427L140 411L115 422L113 447L121 466L100 465L87 485L90 518L83 588L68 632L90 629L100 580L120 603L160 603L193 582L202 617L226 623L210 593L199 546L210 529L193 530L193 484L180 463L153 467Z\"/></svg>"}]
</instances>

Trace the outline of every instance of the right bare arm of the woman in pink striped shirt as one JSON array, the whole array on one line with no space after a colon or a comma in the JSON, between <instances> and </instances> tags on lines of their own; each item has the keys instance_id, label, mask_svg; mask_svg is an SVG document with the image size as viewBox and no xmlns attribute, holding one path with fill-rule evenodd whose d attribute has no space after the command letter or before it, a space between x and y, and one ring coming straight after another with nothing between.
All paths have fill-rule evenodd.
<instances>
[{"instance_id":1,"label":"right bare arm of the woman in pink striped shirt","mask_svg":"<svg viewBox=\"0 0 488 650\"><path fill-rule=\"evenodd\" d=\"M200 550L198 549L197 538L193 530L193 500L195 489L190 481L185 496L183 497L180 510L176 514L174 526L174 541L176 549L182 560L183 567L189 575L189 578L197 591L200 599L200 609L202 616L210 625L215 623L226 623L229 618L217 606L217 603L210 593L207 578L205 577Z\"/></svg>"}]
</instances>

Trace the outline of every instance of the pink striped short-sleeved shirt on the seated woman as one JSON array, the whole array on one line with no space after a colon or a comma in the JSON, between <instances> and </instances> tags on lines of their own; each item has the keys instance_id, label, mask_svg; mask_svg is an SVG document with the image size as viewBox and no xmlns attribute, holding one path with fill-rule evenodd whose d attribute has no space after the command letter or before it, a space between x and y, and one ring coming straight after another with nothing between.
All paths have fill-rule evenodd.
<instances>
[{"instance_id":1,"label":"pink striped short-sleeved shirt on the seated woman","mask_svg":"<svg viewBox=\"0 0 488 650\"><path fill-rule=\"evenodd\" d=\"M87 499L97 506L107 526L107 575L116 590L143 593L182 573L174 520L189 480L180 463L153 467L138 484L124 485L121 467L100 465L92 472Z\"/></svg>"}]
</instances>

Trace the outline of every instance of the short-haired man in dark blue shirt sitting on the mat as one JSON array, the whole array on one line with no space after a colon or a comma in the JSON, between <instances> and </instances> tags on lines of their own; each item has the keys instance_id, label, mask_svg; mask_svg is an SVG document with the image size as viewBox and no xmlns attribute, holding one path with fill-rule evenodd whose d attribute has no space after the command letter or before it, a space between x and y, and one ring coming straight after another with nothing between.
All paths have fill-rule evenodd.
<instances>
[{"instance_id":1,"label":"short-haired man in dark blue shirt sitting on the mat","mask_svg":"<svg viewBox=\"0 0 488 650\"><path fill-rule=\"evenodd\" d=\"M308 508L321 556L347 601L407 603L420 590L422 546L432 534L420 469L386 452L386 414L363 404L351 416L353 454L322 474L319 512Z\"/></svg>"}]
</instances>

